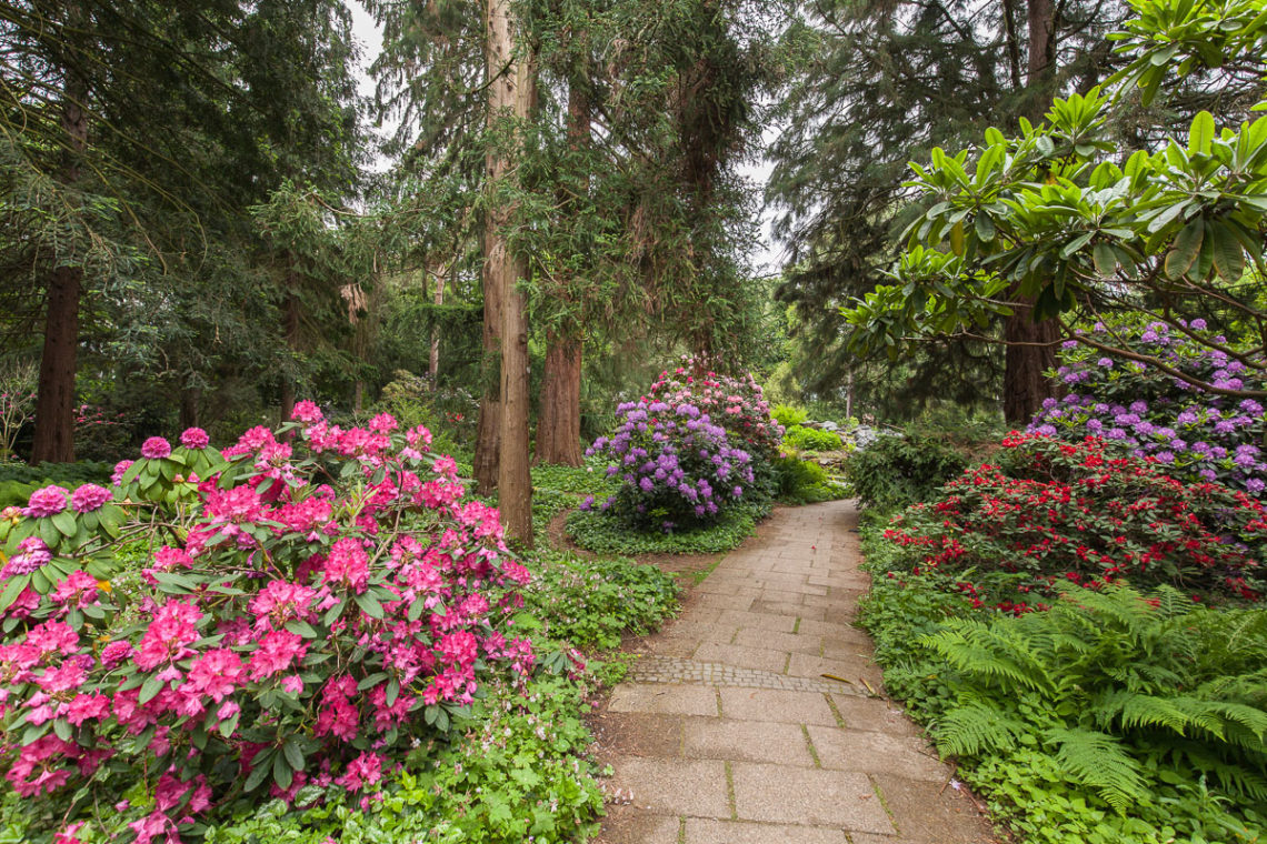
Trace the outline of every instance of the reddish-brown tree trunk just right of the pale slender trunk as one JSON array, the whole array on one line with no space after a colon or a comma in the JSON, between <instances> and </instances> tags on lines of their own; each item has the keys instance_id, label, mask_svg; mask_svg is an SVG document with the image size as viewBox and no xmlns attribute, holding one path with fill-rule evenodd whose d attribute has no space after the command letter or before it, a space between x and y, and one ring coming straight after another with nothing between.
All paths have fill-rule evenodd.
<instances>
[{"instance_id":1,"label":"reddish-brown tree trunk just right of the pale slender trunk","mask_svg":"<svg viewBox=\"0 0 1267 844\"><path fill-rule=\"evenodd\" d=\"M578 81L568 90L568 143L574 153L589 147L589 101ZM585 178L588 186L588 177ZM573 205L561 197L568 213ZM573 319L546 332L546 363L537 418L537 463L580 466L580 364L584 343Z\"/></svg>"}]
</instances>

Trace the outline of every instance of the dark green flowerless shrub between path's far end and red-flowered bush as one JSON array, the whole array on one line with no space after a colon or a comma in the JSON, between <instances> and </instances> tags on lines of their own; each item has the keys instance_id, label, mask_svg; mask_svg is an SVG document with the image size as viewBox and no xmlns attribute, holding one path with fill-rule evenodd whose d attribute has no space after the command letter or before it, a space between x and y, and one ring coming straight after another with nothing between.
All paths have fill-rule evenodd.
<instances>
[{"instance_id":1,"label":"dark green flowerless shrub between path's far end and red-flowered bush","mask_svg":"<svg viewBox=\"0 0 1267 844\"><path fill-rule=\"evenodd\" d=\"M853 452L845 472L864 506L893 507L927 501L967 466L944 439L888 434Z\"/></svg>"}]
</instances>

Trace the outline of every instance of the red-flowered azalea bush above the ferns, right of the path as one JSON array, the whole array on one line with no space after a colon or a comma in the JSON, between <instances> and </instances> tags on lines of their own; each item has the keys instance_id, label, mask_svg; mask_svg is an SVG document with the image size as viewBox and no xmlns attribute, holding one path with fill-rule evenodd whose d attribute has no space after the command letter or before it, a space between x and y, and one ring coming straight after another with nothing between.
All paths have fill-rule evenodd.
<instances>
[{"instance_id":1,"label":"red-flowered azalea bush above the ferns, right of the path","mask_svg":"<svg viewBox=\"0 0 1267 844\"><path fill-rule=\"evenodd\" d=\"M1169 583L1195 596L1257 601L1267 591L1267 510L1218 483L1181 483L1150 461L1106 454L1105 443L1012 433L997 464L968 469L944 497L897 516L884 537L917 571L1006 572L1024 612L1057 581L1086 587ZM979 583L959 587L978 605Z\"/></svg>"}]
</instances>

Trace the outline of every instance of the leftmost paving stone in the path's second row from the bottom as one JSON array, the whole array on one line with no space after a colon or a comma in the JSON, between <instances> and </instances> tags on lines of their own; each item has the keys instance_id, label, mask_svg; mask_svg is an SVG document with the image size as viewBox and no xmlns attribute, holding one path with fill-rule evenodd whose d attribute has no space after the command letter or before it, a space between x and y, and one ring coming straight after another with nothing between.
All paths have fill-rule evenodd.
<instances>
[{"instance_id":1,"label":"leftmost paving stone in the path's second row from the bottom","mask_svg":"<svg viewBox=\"0 0 1267 844\"><path fill-rule=\"evenodd\" d=\"M618 788L632 795L632 805L639 809L660 815L730 817L725 762L620 757L612 767L616 773L606 782L608 793Z\"/></svg>"}]
</instances>

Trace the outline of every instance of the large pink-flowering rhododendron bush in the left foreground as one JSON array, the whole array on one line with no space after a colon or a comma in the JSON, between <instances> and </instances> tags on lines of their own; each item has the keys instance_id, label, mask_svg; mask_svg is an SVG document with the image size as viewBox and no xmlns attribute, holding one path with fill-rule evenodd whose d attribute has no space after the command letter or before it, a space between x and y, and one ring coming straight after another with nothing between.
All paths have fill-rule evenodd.
<instances>
[{"instance_id":1,"label":"large pink-flowering rhododendron bush in the left foreground","mask_svg":"<svg viewBox=\"0 0 1267 844\"><path fill-rule=\"evenodd\" d=\"M4 511L0 764L44 834L98 840L108 816L176 841L241 797L372 800L481 678L528 672L528 573L430 442L300 402L223 453L151 438L113 488ZM138 538L148 588L122 600L110 562Z\"/></svg>"}]
</instances>

